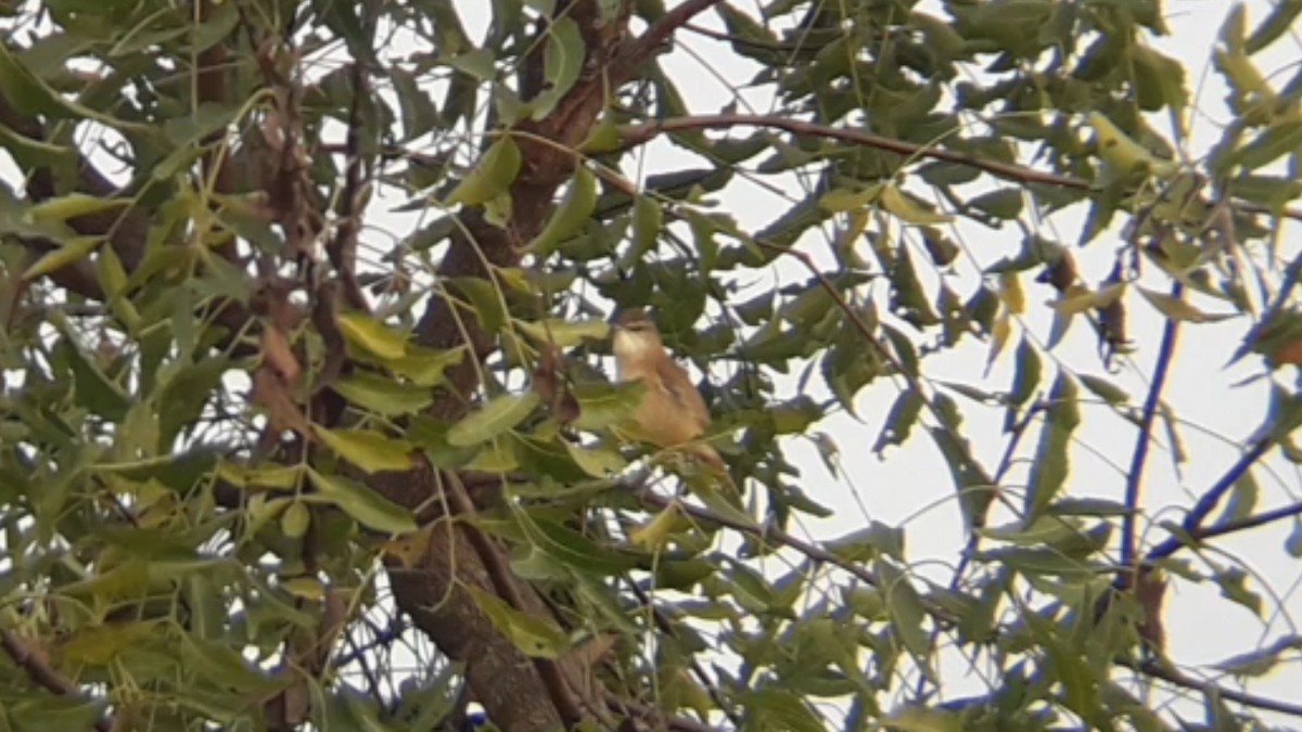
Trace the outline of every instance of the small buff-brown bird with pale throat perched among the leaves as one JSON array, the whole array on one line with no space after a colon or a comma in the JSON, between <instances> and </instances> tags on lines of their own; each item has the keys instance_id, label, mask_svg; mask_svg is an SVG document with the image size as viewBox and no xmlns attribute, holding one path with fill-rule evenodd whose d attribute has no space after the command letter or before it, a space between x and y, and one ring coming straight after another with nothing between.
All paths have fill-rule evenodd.
<instances>
[{"instance_id":1,"label":"small buff-brown bird with pale throat perched among the leaves","mask_svg":"<svg viewBox=\"0 0 1302 732\"><path fill-rule=\"evenodd\" d=\"M661 448L678 449L711 468L736 490L719 452L698 442L710 430L710 408L687 370L664 348L660 331L643 310L624 310L613 323L616 376L646 386L633 413L635 436Z\"/></svg>"}]
</instances>

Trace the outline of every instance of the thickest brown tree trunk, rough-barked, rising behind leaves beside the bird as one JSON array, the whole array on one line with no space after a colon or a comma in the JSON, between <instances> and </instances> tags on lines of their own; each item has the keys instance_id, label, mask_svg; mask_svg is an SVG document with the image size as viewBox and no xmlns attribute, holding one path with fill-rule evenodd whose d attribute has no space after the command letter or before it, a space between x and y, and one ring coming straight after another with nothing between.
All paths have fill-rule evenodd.
<instances>
[{"instance_id":1,"label":"thickest brown tree trunk, rough-barked, rising behind leaves beside the bird","mask_svg":"<svg viewBox=\"0 0 1302 732\"><path fill-rule=\"evenodd\" d=\"M628 13L630 4L622 10ZM566 14L578 25L587 48L585 76L547 119L521 125L517 145L523 162L512 184L512 218L505 228L488 223L482 208L458 214L458 231L439 267L439 279L456 289L456 277L493 281L492 270L519 263L521 249L547 220L557 189L570 177L575 154L604 108L612 87L612 60L625 33L626 17L602 17L595 0L570 4ZM542 55L539 55L542 56ZM542 57L527 63L543 63ZM618 82L615 82L617 85ZM417 339L435 348L469 345L469 356L448 370L448 384L431 406L431 415L456 421L465 415L479 388L483 361L495 348L493 333L486 332L473 313L457 310L447 298L434 297L417 326ZM411 475L376 485L391 499L408 505L426 504L436 486ZM454 508L454 514L458 513ZM447 517L444 518L444 521ZM440 526L448 525L440 521ZM414 567L391 564L391 578L398 607L408 612L448 656L466 662L467 681L488 716L506 732L555 729L561 718L574 714L565 709L564 689L549 669L535 667L478 611L466 585L497 590L475 542L456 522L449 529L435 528L437 543ZM482 548L482 547L480 547ZM546 612L536 591L522 585L512 604L526 612ZM551 689L548 689L551 686ZM603 699L581 698L582 709L604 707ZM561 709L557 709L561 707Z\"/></svg>"}]
</instances>

